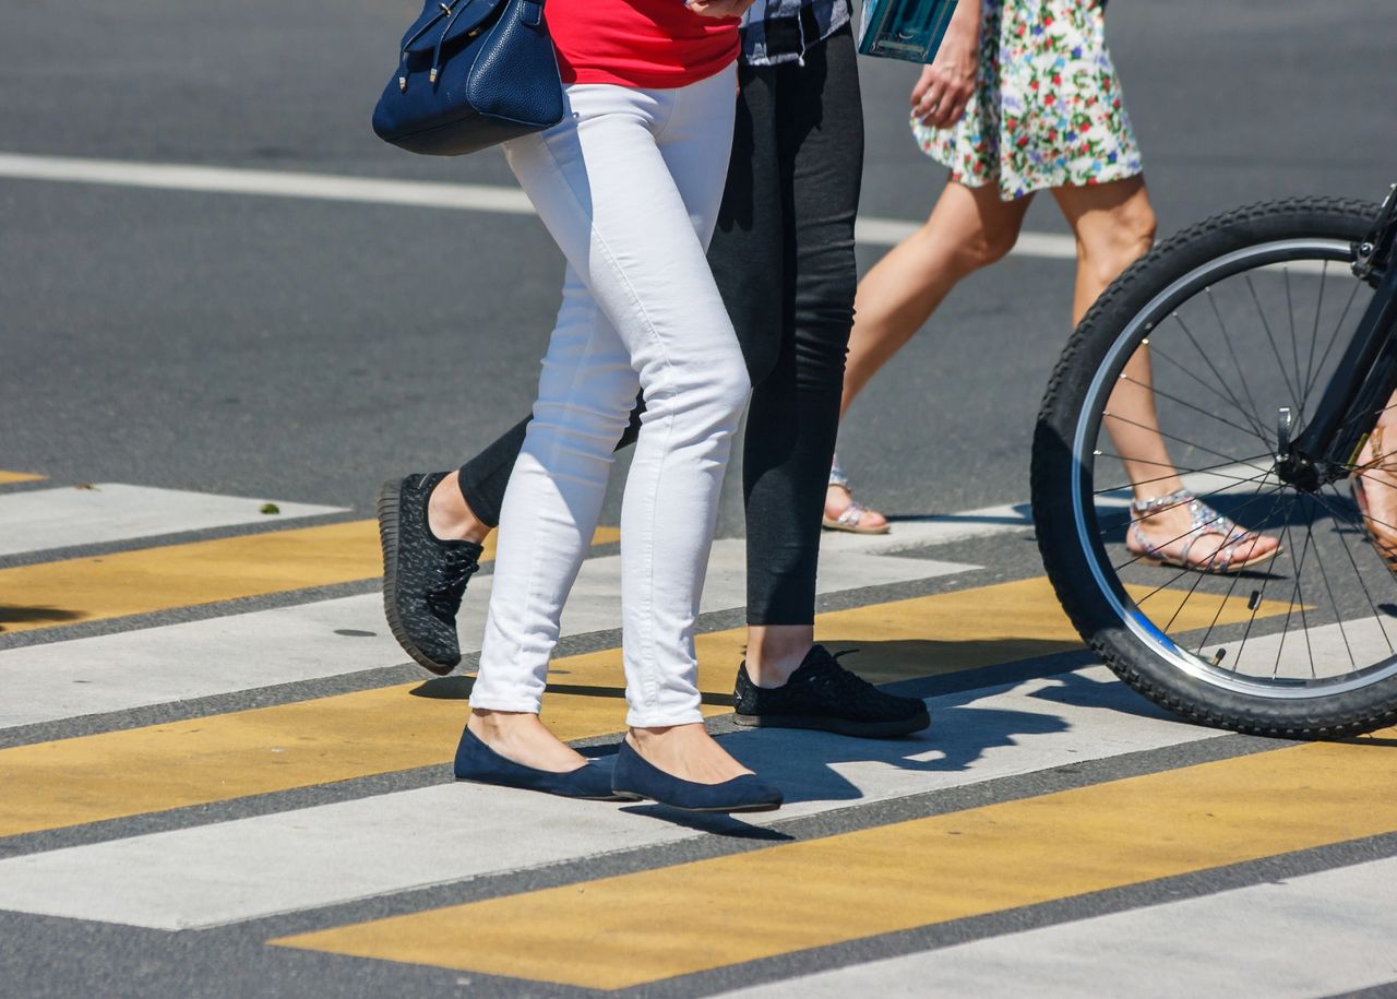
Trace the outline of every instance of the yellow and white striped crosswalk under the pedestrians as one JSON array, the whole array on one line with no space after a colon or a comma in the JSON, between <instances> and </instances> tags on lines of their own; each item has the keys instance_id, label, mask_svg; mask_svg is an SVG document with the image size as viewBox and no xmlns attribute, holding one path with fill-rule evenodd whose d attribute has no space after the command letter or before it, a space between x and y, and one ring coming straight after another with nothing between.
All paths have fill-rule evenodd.
<instances>
[{"instance_id":1,"label":"yellow and white striped crosswalk under the pedestrians","mask_svg":"<svg viewBox=\"0 0 1397 999\"><path fill-rule=\"evenodd\" d=\"M0 471L0 917L196 947L233 932L264 967L415 965L492 995L1397 982L1390 738L1292 746L1165 715L1027 566L939 557L1027 527L1004 506L827 539L819 637L932 711L893 742L731 731L743 549L719 541L704 711L788 803L680 822L451 782L469 679L405 665L362 514ZM623 727L615 541L594 539L545 697L588 752ZM468 658L489 581L462 611ZM1252 612L1196 598L1180 626Z\"/></svg>"}]
</instances>

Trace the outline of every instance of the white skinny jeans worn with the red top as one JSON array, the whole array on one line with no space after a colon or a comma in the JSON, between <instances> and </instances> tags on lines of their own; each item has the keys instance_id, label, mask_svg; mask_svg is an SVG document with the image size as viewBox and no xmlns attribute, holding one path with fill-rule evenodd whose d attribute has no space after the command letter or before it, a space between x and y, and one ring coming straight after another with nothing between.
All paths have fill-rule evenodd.
<instances>
[{"instance_id":1,"label":"white skinny jeans worn with the red top","mask_svg":"<svg viewBox=\"0 0 1397 999\"><path fill-rule=\"evenodd\" d=\"M626 722L696 722L693 625L750 393L704 257L728 173L735 68L676 89L574 84L567 102L560 124L506 144L567 272L500 510L471 706L539 710L612 453L643 391L620 517Z\"/></svg>"}]
</instances>

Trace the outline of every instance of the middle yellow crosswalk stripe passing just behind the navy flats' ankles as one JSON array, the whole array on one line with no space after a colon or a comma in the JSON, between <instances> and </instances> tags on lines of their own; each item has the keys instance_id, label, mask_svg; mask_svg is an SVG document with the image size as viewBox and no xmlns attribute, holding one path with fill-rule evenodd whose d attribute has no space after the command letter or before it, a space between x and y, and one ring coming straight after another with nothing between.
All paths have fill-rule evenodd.
<instances>
[{"instance_id":1,"label":"middle yellow crosswalk stripe passing just behind the navy flats' ankles","mask_svg":"<svg viewBox=\"0 0 1397 999\"><path fill-rule=\"evenodd\" d=\"M1197 609L1192 609L1193 604ZM1197 623L1215 604L1190 601ZM1285 605L1263 605L1261 613ZM1224 620L1250 612L1245 601ZM1046 580L1004 583L821 615L821 640L855 644L875 680L928 676L1077 646ZM745 630L698 637L698 685L732 692ZM620 651L556 659L543 720L567 739L623 727ZM0 836L228 801L254 794L440 764L465 718L460 700L414 697L405 683L191 721L0 750ZM440 690L427 686L427 692ZM722 708L711 708L721 711Z\"/></svg>"}]
</instances>

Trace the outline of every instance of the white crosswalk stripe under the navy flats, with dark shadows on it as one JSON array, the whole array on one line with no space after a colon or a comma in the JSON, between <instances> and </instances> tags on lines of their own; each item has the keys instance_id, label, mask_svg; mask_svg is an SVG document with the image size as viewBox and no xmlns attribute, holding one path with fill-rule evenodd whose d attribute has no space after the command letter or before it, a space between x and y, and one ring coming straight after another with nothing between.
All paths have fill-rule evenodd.
<instances>
[{"instance_id":1,"label":"white crosswalk stripe under the navy flats, with dark shadows on it","mask_svg":"<svg viewBox=\"0 0 1397 999\"><path fill-rule=\"evenodd\" d=\"M763 729L724 745L816 815L1220 732L1161 717L1104 668L929 701L904 741ZM411 849L423 843L468 848ZM0 908L184 929L692 838L645 813L448 784L0 861ZM700 834L701 836L701 834ZM386 859L391 858L391 859Z\"/></svg>"}]
</instances>

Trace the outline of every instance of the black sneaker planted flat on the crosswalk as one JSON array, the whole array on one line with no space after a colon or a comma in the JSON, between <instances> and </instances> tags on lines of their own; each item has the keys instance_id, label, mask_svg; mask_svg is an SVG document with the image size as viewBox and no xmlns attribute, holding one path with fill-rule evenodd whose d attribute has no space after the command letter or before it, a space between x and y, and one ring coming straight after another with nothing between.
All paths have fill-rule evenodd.
<instances>
[{"instance_id":1,"label":"black sneaker planted flat on the crosswalk","mask_svg":"<svg viewBox=\"0 0 1397 999\"><path fill-rule=\"evenodd\" d=\"M738 666L736 722L747 728L817 728L865 739L921 732L932 717L916 697L894 697L841 666L824 646L806 652L780 687L759 687Z\"/></svg>"}]
</instances>

